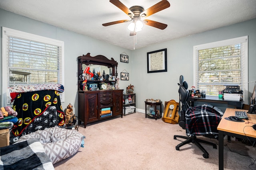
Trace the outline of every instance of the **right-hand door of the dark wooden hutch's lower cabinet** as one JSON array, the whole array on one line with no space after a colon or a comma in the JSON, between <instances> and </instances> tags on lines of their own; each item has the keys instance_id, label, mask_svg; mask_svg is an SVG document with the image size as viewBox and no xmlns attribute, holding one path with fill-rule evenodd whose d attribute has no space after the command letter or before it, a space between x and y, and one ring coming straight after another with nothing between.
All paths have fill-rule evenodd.
<instances>
[{"instance_id":1,"label":"right-hand door of the dark wooden hutch's lower cabinet","mask_svg":"<svg viewBox=\"0 0 256 170\"><path fill-rule=\"evenodd\" d=\"M123 113L123 92L122 90L113 91L113 115Z\"/></svg>"}]
</instances>

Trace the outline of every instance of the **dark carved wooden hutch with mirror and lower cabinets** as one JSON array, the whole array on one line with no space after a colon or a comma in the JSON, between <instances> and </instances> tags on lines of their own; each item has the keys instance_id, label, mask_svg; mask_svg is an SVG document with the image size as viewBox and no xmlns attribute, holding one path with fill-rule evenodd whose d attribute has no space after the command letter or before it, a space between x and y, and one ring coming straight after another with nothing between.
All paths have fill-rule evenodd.
<instances>
[{"instance_id":1,"label":"dark carved wooden hutch with mirror and lower cabinets","mask_svg":"<svg viewBox=\"0 0 256 170\"><path fill-rule=\"evenodd\" d=\"M84 82L81 76L84 73L84 68L86 66L93 68L92 64L97 65L97 68L106 66L104 72L110 70L109 75L117 76L118 63L113 58L109 60L102 55L92 57L90 53L78 57L78 123L84 122L84 128L90 122L117 115L123 116L123 90L114 89L114 80L108 80L107 78L86 80L88 87L90 87L90 84L94 84L94 86L97 86L97 90L84 90L81 86ZM102 84L105 84L105 87L110 86L111 90L98 90L101 89ZM108 114L106 114L106 111Z\"/></svg>"}]
</instances>

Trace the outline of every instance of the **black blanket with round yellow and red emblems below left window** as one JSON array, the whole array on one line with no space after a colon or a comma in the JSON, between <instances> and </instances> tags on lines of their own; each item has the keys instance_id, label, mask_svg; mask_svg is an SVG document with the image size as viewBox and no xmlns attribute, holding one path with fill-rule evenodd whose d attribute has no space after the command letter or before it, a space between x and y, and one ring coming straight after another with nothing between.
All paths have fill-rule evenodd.
<instances>
[{"instance_id":1,"label":"black blanket with round yellow and red emblems below left window","mask_svg":"<svg viewBox=\"0 0 256 170\"><path fill-rule=\"evenodd\" d=\"M56 90L20 93L14 100L13 109L18 112L18 122L10 135L10 144L22 135L43 130L65 122L60 95Z\"/></svg>"}]
</instances>

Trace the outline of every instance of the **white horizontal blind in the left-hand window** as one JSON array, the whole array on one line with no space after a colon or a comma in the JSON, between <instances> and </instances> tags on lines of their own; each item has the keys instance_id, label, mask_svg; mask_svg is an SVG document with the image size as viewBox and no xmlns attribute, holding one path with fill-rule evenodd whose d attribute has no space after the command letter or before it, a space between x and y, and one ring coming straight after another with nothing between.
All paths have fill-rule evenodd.
<instances>
[{"instance_id":1,"label":"white horizontal blind in the left-hand window","mask_svg":"<svg viewBox=\"0 0 256 170\"><path fill-rule=\"evenodd\" d=\"M8 36L8 86L61 82L61 47Z\"/></svg>"}]
</instances>

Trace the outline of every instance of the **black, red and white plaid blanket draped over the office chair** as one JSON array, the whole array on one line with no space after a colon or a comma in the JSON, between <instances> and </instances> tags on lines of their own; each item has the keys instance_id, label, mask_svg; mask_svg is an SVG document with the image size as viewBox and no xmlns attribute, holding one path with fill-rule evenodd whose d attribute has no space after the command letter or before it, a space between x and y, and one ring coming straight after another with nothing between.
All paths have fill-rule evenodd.
<instances>
[{"instance_id":1,"label":"black, red and white plaid blanket draped over the office chair","mask_svg":"<svg viewBox=\"0 0 256 170\"><path fill-rule=\"evenodd\" d=\"M212 107L189 107L186 111L186 135L218 135L221 114Z\"/></svg>"}]
</instances>

